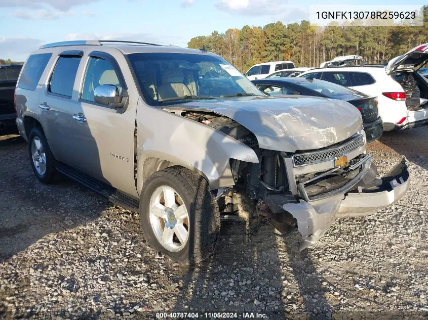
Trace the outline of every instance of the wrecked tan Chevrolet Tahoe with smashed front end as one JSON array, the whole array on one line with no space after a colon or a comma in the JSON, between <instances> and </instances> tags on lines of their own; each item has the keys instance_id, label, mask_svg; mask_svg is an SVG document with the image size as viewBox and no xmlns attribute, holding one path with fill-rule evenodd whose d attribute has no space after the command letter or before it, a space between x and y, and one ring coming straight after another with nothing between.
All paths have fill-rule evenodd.
<instances>
[{"instance_id":1,"label":"wrecked tan Chevrolet Tahoe with smashed front end","mask_svg":"<svg viewBox=\"0 0 428 320\"><path fill-rule=\"evenodd\" d=\"M297 227L304 249L336 217L375 213L409 186L404 159L376 178L354 106L267 97L204 49L43 45L16 109L40 181L61 172L138 211L151 246L185 263L212 253L222 215Z\"/></svg>"}]
</instances>

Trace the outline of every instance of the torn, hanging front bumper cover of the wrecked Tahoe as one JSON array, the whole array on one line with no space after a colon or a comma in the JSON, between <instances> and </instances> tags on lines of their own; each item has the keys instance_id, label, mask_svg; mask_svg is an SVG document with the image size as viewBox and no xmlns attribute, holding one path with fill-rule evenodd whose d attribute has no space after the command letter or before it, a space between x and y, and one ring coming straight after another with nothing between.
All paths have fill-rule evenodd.
<instances>
[{"instance_id":1,"label":"torn, hanging front bumper cover of the wrecked Tahoe","mask_svg":"<svg viewBox=\"0 0 428 320\"><path fill-rule=\"evenodd\" d=\"M358 184L344 194L317 201L287 203L283 205L283 209L297 220L297 227L303 238L300 250L303 250L316 243L336 217L376 213L401 199L409 189L409 184L409 172L403 158L388 174L367 185Z\"/></svg>"}]
</instances>

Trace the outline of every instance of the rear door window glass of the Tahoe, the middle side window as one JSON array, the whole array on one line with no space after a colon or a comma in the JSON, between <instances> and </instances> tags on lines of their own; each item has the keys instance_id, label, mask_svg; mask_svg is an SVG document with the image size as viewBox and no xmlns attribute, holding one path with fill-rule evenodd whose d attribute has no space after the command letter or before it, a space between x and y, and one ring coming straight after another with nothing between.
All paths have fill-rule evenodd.
<instances>
[{"instance_id":1,"label":"rear door window glass of the Tahoe, the middle side window","mask_svg":"<svg viewBox=\"0 0 428 320\"><path fill-rule=\"evenodd\" d=\"M81 57L59 57L49 81L50 93L71 98L80 60Z\"/></svg>"}]
</instances>

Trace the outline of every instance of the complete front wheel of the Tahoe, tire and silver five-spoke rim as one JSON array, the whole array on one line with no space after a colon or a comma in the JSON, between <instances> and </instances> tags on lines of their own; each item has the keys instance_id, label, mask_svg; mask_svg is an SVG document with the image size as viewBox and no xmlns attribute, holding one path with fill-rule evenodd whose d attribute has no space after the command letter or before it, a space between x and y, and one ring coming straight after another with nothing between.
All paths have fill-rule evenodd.
<instances>
[{"instance_id":1,"label":"complete front wheel of the Tahoe, tire and silver five-spoke rim","mask_svg":"<svg viewBox=\"0 0 428 320\"><path fill-rule=\"evenodd\" d=\"M208 181L182 167L155 172L144 182L140 220L147 242L184 264L209 257L220 231L220 213Z\"/></svg>"}]
</instances>

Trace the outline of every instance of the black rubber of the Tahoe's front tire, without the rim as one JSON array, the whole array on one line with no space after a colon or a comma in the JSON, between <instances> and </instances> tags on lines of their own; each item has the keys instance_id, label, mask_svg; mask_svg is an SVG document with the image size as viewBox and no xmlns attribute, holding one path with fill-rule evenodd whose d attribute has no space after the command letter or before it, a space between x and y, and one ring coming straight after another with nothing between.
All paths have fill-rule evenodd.
<instances>
[{"instance_id":1,"label":"black rubber of the Tahoe's front tire, without the rim","mask_svg":"<svg viewBox=\"0 0 428 320\"><path fill-rule=\"evenodd\" d=\"M175 189L188 211L189 236L185 246L178 252L166 249L158 241L150 224L150 198L160 186ZM220 213L210 193L208 181L182 167L166 168L147 178L140 197L140 220L150 246L174 261L189 265L199 263L212 254L220 231Z\"/></svg>"}]
</instances>

